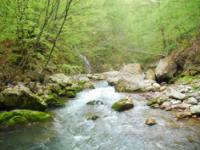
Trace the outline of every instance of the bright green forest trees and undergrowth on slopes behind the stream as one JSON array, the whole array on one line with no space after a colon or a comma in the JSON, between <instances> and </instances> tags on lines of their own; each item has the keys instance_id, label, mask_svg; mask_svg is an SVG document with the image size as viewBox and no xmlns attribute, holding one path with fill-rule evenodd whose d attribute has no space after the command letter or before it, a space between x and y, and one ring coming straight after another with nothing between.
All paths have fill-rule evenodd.
<instances>
[{"instance_id":1,"label":"bright green forest trees and undergrowth on slopes behind the stream","mask_svg":"<svg viewBox=\"0 0 200 150\"><path fill-rule=\"evenodd\" d=\"M1 0L0 63L84 72L149 63L200 34L199 0Z\"/></svg>"}]
</instances>

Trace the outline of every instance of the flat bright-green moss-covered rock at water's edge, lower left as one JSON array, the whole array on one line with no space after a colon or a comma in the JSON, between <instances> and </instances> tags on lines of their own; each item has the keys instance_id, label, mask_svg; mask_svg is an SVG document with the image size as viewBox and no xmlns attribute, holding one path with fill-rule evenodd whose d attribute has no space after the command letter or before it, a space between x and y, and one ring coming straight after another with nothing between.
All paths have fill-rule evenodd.
<instances>
[{"instance_id":1,"label":"flat bright-green moss-covered rock at water's edge, lower left","mask_svg":"<svg viewBox=\"0 0 200 150\"><path fill-rule=\"evenodd\" d=\"M0 113L0 129L14 127L16 125L41 122L50 119L51 115L46 112L32 110L12 110Z\"/></svg>"}]
</instances>

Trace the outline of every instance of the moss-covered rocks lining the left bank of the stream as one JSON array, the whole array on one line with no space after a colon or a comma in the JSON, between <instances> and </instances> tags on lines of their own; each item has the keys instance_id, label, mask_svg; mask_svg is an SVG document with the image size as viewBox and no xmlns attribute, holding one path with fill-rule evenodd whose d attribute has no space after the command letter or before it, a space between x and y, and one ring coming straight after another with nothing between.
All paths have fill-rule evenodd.
<instances>
[{"instance_id":1,"label":"moss-covered rocks lining the left bank of the stream","mask_svg":"<svg viewBox=\"0 0 200 150\"><path fill-rule=\"evenodd\" d=\"M62 97L73 98L84 88L93 88L88 77L64 74L47 77L45 84L29 82L9 85L0 93L0 128L45 120L50 115L39 111L63 106L65 101Z\"/></svg>"}]
</instances>

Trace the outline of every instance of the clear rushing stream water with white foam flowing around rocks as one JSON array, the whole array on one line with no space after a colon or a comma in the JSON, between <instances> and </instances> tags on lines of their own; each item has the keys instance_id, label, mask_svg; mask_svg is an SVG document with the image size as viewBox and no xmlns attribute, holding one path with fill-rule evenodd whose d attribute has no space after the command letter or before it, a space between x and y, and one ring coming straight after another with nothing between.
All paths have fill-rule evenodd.
<instances>
[{"instance_id":1,"label":"clear rushing stream water with white foam flowing around rocks","mask_svg":"<svg viewBox=\"0 0 200 150\"><path fill-rule=\"evenodd\" d=\"M130 95L130 94L129 94ZM115 112L111 105L127 94L116 93L106 82L80 92L66 106L53 110L54 120L0 133L1 150L199 150L200 122L176 121L170 112L150 109L145 99L131 94L135 107ZM88 106L91 100L104 105ZM101 118L88 121L85 113ZM158 124L144 124L155 117Z\"/></svg>"}]
</instances>

